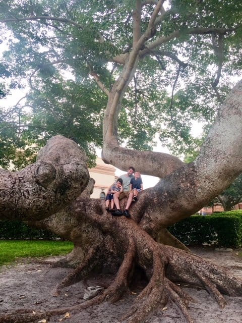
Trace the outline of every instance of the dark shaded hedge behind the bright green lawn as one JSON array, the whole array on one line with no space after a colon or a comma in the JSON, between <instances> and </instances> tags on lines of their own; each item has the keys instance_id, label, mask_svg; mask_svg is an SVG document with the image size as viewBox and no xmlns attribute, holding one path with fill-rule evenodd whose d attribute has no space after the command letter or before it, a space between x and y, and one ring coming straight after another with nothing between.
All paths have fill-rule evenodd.
<instances>
[{"instance_id":1,"label":"dark shaded hedge behind the bright green lawn","mask_svg":"<svg viewBox=\"0 0 242 323\"><path fill-rule=\"evenodd\" d=\"M55 240L59 238L52 232L34 229L21 221L0 221L0 239L44 239Z\"/></svg>"}]
</instances>

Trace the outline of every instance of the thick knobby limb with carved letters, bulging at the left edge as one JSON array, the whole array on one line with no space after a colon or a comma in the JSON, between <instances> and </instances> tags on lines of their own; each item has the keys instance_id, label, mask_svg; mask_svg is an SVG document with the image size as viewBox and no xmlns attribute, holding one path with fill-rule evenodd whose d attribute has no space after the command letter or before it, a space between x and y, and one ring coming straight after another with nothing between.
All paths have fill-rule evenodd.
<instances>
[{"instance_id":1,"label":"thick knobby limb with carved letters, bulging at the left edge","mask_svg":"<svg viewBox=\"0 0 242 323\"><path fill-rule=\"evenodd\" d=\"M20 172L1 170L1 219L40 220L69 204L88 183L86 162L73 140L55 136L36 163Z\"/></svg>"}]
</instances>

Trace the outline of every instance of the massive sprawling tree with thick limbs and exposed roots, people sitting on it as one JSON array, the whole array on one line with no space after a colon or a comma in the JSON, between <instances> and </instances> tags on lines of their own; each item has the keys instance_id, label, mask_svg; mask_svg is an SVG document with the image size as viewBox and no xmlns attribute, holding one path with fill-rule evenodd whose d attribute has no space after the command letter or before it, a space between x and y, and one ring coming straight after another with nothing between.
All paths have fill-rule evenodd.
<instances>
[{"instance_id":1,"label":"massive sprawling tree with thick limbs and exposed roots, people sitting on it","mask_svg":"<svg viewBox=\"0 0 242 323\"><path fill-rule=\"evenodd\" d=\"M105 163L124 171L132 164L142 174L161 178L140 194L130 209L131 219L127 219L112 217L103 201L90 198L93 180L88 176L87 159L72 139L54 136L40 150L36 163L16 173L1 170L2 219L22 219L74 242L62 265L73 265L75 270L59 283L55 295L63 286L97 271L114 274L101 295L72 310L118 300L137 271L144 274L147 286L123 318L129 323L142 321L168 299L192 322L187 308L191 298L176 282L206 288L221 307L225 305L222 294L241 295L241 280L190 253L166 228L207 205L242 172L242 82L221 104L193 163L184 164L165 153L130 149L139 140L150 141L148 130L152 126L157 130L159 123L169 125L171 137L181 140L189 136L191 111L202 118L220 105L228 85L225 77L218 87L222 71L236 74L241 64L241 6L226 1L99 1L95 8L89 1L1 2L1 22L18 40L8 52L18 62L12 66L9 58L8 67L17 76L29 75L32 92L28 100L33 106L37 103L34 109L43 104L43 110L51 110L55 98L59 106L56 118L64 114L68 102L56 92L63 68L76 76L77 84L82 79L85 83L85 74L106 95L102 124ZM190 79L175 93L180 73ZM170 96L162 86L168 82L173 82ZM53 90L49 101L45 86ZM97 102L96 94L96 89L90 93L91 101ZM84 103L80 113L87 109ZM94 117L93 112L90 116ZM76 117L70 120L78 123ZM165 131L161 129L160 134ZM126 147L120 138L127 139ZM57 308L45 314L51 317L71 309ZM14 310L2 315L0 322L32 322L40 317L42 313L29 309Z\"/></svg>"}]
</instances>

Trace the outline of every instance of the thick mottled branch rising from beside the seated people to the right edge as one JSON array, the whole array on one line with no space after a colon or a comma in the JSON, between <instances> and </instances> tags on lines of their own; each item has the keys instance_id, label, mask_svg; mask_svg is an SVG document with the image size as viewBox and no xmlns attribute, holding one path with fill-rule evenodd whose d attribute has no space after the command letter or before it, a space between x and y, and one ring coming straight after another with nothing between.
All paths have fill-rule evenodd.
<instances>
[{"instance_id":1,"label":"thick mottled branch rising from beside the seated people to the right edge","mask_svg":"<svg viewBox=\"0 0 242 323\"><path fill-rule=\"evenodd\" d=\"M139 202L148 205L140 222L143 228L158 232L162 226L188 218L208 205L242 172L241 102L242 81L226 98L195 162L180 167L161 180L150 194L144 192L140 197ZM155 201L154 205L147 200Z\"/></svg>"}]
</instances>

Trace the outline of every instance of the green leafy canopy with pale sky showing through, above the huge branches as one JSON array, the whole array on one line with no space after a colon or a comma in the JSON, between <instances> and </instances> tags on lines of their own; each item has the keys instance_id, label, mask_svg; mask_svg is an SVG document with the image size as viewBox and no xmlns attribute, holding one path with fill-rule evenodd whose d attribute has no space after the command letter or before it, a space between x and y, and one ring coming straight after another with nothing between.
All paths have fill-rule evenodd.
<instances>
[{"instance_id":1,"label":"green leafy canopy with pale sky showing through, above the huge branches","mask_svg":"<svg viewBox=\"0 0 242 323\"><path fill-rule=\"evenodd\" d=\"M102 144L107 103L96 81L110 89L120 73L115 58L132 47L134 5L118 0L95 6L90 0L0 1L0 28L8 45L0 71L12 88L24 88L29 81L28 95L16 106L19 119L1 112L0 143L7 147L7 158L0 158L3 167L10 160L15 168L32 161L32 147L39 148L53 134L75 138L92 165L94 147ZM118 136L128 147L144 150L152 149L158 133L171 152L193 154L199 140L191 134L192 121L212 123L231 87L227 76L241 70L242 4L170 0L165 5L167 13L125 94ZM142 31L152 10L152 5L143 8ZM167 40L153 48L152 41L162 37ZM31 153L22 153L26 148ZM16 149L21 153L15 155Z\"/></svg>"}]
</instances>

